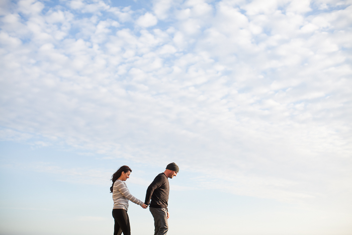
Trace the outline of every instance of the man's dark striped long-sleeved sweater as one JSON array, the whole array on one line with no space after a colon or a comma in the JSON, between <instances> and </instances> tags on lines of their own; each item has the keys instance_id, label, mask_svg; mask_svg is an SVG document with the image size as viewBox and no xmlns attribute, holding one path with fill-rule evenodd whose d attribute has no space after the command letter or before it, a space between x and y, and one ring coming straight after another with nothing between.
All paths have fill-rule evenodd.
<instances>
[{"instance_id":1,"label":"man's dark striped long-sleeved sweater","mask_svg":"<svg viewBox=\"0 0 352 235\"><path fill-rule=\"evenodd\" d=\"M167 201L170 188L168 179L164 173L160 173L149 185L145 195L144 204L154 208L165 208L167 210Z\"/></svg>"}]
</instances>

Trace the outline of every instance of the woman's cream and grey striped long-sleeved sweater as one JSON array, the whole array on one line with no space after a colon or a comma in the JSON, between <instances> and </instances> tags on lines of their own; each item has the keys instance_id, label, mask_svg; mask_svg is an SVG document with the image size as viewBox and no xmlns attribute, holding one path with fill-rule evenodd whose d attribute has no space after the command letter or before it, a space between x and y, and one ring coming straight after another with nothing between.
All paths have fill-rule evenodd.
<instances>
[{"instance_id":1,"label":"woman's cream and grey striped long-sleeved sweater","mask_svg":"<svg viewBox=\"0 0 352 235\"><path fill-rule=\"evenodd\" d=\"M113 209L125 209L128 210L128 200L137 205L143 205L143 202L132 196L130 191L127 188L125 182L121 180L116 180L113 188L113 200L114 208Z\"/></svg>"}]
</instances>

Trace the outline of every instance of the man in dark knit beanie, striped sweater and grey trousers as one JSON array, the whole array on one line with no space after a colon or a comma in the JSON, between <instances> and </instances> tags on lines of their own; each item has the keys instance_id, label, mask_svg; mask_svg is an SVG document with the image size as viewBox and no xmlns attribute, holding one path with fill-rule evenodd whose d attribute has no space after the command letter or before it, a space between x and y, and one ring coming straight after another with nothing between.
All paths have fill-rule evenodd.
<instances>
[{"instance_id":1,"label":"man in dark knit beanie, striped sweater and grey trousers","mask_svg":"<svg viewBox=\"0 0 352 235\"><path fill-rule=\"evenodd\" d=\"M166 170L163 173L160 173L155 177L154 181L147 189L144 204L149 205L151 199L149 210L154 217L154 235L165 235L168 230L168 178L172 179L172 177L176 176L178 172L179 166L175 163L170 163L166 166Z\"/></svg>"}]
</instances>

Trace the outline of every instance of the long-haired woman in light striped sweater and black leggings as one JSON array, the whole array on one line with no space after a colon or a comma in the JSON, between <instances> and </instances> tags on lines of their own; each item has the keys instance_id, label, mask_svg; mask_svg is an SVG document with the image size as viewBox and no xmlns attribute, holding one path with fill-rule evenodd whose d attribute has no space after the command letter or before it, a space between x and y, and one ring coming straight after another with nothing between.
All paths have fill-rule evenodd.
<instances>
[{"instance_id":1,"label":"long-haired woman in light striped sweater and black leggings","mask_svg":"<svg viewBox=\"0 0 352 235\"><path fill-rule=\"evenodd\" d=\"M115 219L114 235L131 235L130 220L128 218L128 200L134 202L144 209L148 206L130 194L126 186L126 181L130 178L132 170L127 166L120 167L111 177L113 185L110 188L113 193L114 208L113 217Z\"/></svg>"}]
</instances>

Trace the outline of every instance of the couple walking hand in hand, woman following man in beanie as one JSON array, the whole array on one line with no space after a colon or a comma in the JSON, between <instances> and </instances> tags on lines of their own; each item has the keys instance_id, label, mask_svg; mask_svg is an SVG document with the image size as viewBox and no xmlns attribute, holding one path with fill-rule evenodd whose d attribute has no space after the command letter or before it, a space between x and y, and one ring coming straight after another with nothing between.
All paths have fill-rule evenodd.
<instances>
[{"instance_id":1,"label":"couple walking hand in hand, woman following man in beanie","mask_svg":"<svg viewBox=\"0 0 352 235\"><path fill-rule=\"evenodd\" d=\"M167 211L168 178L172 179L172 177L176 176L179 172L179 167L175 163L170 163L166 166L166 170L163 173L155 177L147 189L144 203L132 196L127 188L125 181L130 177L131 172L132 170L129 167L122 166L111 178L113 181L110 191L113 193L114 200L114 235L121 235L122 232L124 235L131 234L130 221L127 214L129 200L144 209L149 205L149 210L154 217L154 235L165 235L168 230L167 219L169 217Z\"/></svg>"}]
</instances>

